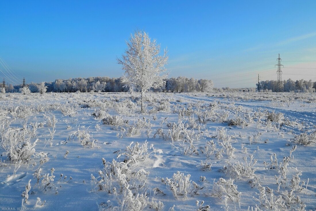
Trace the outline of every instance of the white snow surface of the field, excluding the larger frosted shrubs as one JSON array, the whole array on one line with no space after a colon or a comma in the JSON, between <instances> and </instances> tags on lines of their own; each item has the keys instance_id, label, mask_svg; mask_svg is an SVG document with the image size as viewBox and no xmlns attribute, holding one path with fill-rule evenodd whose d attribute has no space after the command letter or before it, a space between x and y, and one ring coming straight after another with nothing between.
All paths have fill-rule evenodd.
<instances>
[{"instance_id":1,"label":"white snow surface of the field, excluding the larger frosted shrubs","mask_svg":"<svg viewBox=\"0 0 316 211\"><path fill-rule=\"evenodd\" d=\"M248 207L250 210L251 207L253 209L257 207L258 210L270 210L254 199L259 199L258 185L251 187L249 181L257 177L263 187L273 189L276 196L284 196L285 191L292 189L290 185L293 175L300 171L302 172L301 182L305 182L305 185L302 186L301 191L294 190L293 194L300 197L306 205L305 210L316 210L316 144L304 146L291 141L295 135L304 132L312 134L316 130L315 93L146 93L145 97L147 113L140 114L139 93L44 93L42 95L10 93L0 95L0 124L4 125L4 129L0 131L8 128L23 130L23 125L32 131L32 125L41 124L33 136L27 132L26 137L30 137L31 143L39 139L35 151L47 153L49 160L40 167L42 175L51 173L52 168L55 169L53 173L55 178L51 181L55 189L44 191L36 185L37 180L33 176L42 158L32 156L29 163L20 163L21 167L17 168L14 174L17 164L6 157L5 149L0 145L2 155L0 207L15 208L15 210L22 206L37 208L37 210L120 210L121 194L115 196L104 190L92 190L91 174L97 177L99 170L104 169L102 158L110 163L113 159L124 162L124 156L117 158L118 153L113 152L125 150L131 142L134 144L138 142L141 145L147 140L148 148L153 144L154 148L160 149L161 153L152 153L148 159L140 160L133 166L135 169L144 169L149 172L148 187L142 192L149 197L149 204L144 210L155 210L150 207L152 200L163 203L161 210L169 210L173 205L175 205L174 210L198 210L197 200L204 201L203 206L209 205L210 210L247 210ZM19 113L14 113L16 107L20 109L17 110L18 112L26 114L19 116ZM63 108L66 111L62 112ZM27 109L29 112L25 111ZM179 114L181 109L190 115L181 116ZM199 123L196 122L195 112L198 109L202 112L213 111L213 114L210 114L205 122ZM114 125L102 124L102 116L92 115L97 111L129 120L128 125L122 125L126 131ZM256 118L258 115L255 114L259 113L258 111L263 113L259 126L259 119ZM272 111L283 113L283 118L279 122L271 121L268 125L266 113ZM53 115L57 119L56 132L50 140L50 131L53 128L47 124L47 117L52 118ZM228 125L227 121L221 119L224 115L228 115L226 120L240 118L244 120L244 125ZM143 118L146 121L150 120L151 128L141 128L140 134L128 136L128 126L136 124L137 119L143 120ZM178 124L181 121L184 125L188 124L187 130L195 134L192 143L197 153L185 155L185 149L182 146L187 146L189 143L186 137L174 141L168 138L165 140L159 135L153 138L158 128L162 128L165 134L168 134L167 124L173 122ZM291 124L287 125L286 121ZM196 122L200 130L197 127L192 128L192 122ZM94 147L80 144L76 136L78 130L90 135L90 140L94 140ZM217 148L222 149L219 144L222 142L219 137L220 130L225 131L226 136L230 136L229 143L235 148L234 154L229 157L224 150L220 159L216 159L214 154L207 157L201 150L207 141L213 140ZM262 135L257 143L250 144L248 137L253 137L259 132ZM197 134L200 134L199 138ZM283 163L283 157L290 156L290 150L294 145L297 145L297 148L292 153L294 159L287 166L287 181L284 187L282 185L277 191L278 185L275 178L280 173L277 169L269 168L270 156L274 158L274 153L276 153L279 165L280 162ZM246 152L245 148L247 148ZM67 150L69 154L65 156ZM148 152L151 151L148 149ZM249 162L251 155L253 159L258 160L252 168L255 169L254 175L241 176L240 179L220 171L224 166L228 166L228 163L246 165L244 157L247 157L247 162ZM211 164L211 170L201 170L201 161ZM36 162L36 166L33 166L33 162ZM269 163L267 169L264 162ZM184 173L185 176L190 174L190 180L204 188L196 195L191 196L188 193L187 197L178 195L175 198L169 186L161 182L161 179L172 178L177 171ZM59 180L61 174L63 176ZM64 176L67 178L64 179ZM205 177L206 181L202 181L201 176ZM234 180L237 191L241 193L239 202L230 200L225 194L221 198L214 194L214 182L220 178ZM29 198L22 205L21 194L25 191L25 186L30 179ZM165 195L154 194L153 189L156 187ZM37 197L40 197L42 202L46 200L45 204L36 205ZM228 199L226 204L225 198ZM101 202L109 206L98 208ZM298 210L299 208L299 205L293 205L293 207L289 205L280 210Z\"/></svg>"}]
</instances>

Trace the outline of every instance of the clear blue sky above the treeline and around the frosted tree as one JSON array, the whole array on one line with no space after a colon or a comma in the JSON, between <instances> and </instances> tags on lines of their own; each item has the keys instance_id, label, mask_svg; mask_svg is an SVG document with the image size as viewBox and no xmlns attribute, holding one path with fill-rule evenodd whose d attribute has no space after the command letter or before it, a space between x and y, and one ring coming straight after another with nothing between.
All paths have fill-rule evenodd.
<instances>
[{"instance_id":1,"label":"clear blue sky above the treeline and around the frosted tree","mask_svg":"<svg viewBox=\"0 0 316 211\"><path fill-rule=\"evenodd\" d=\"M280 54L283 79L316 81L315 11L316 1L1 1L0 77L120 77L116 58L140 29L167 47L169 77L255 87L258 74L276 80Z\"/></svg>"}]
</instances>

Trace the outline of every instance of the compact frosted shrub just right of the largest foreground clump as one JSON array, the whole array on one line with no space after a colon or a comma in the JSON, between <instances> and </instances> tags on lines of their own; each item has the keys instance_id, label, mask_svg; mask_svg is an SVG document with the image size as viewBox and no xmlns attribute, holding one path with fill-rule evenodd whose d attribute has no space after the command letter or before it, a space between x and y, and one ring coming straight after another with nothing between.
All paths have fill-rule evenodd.
<instances>
[{"instance_id":1,"label":"compact frosted shrub just right of the largest foreground clump","mask_svg":"<svg viewBox=\"0 0 316 211\"><path fill-rule=\"evenodd\" d=\"M190 177L190 174L184 176L184 173L177 171L177 173L173 174L171 179L166 177L166 180L162 178L161 181L169 186L174 198L178 199L179 195L187 198L187 194L191 188Z\"/></svg>"}]
</instances>

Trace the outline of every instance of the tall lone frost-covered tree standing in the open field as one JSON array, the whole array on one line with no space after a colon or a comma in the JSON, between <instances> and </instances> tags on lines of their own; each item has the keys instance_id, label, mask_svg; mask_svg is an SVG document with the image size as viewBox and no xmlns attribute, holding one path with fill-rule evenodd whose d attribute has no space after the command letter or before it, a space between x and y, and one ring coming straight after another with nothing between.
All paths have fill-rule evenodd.
<instances>
[{"instance_id":1,"label":"tall lone frost-covered tree standing in the open field","mask_svg":"<svg viewBox=\"0 0 316 211\"><path fill-rule=\"evenodd\" d=\"M160 45L156 40L151 40L144 31L137 31L131 35L129 42L126 42L127 49L122 58L117 58L119 64L125 70L123 82L134 86L141 93L141 112L144 112L144 92L150 88L162 86L166 78L168 56L167 50L163 55L160 53Z\"/></svg>"}]
</instances>

